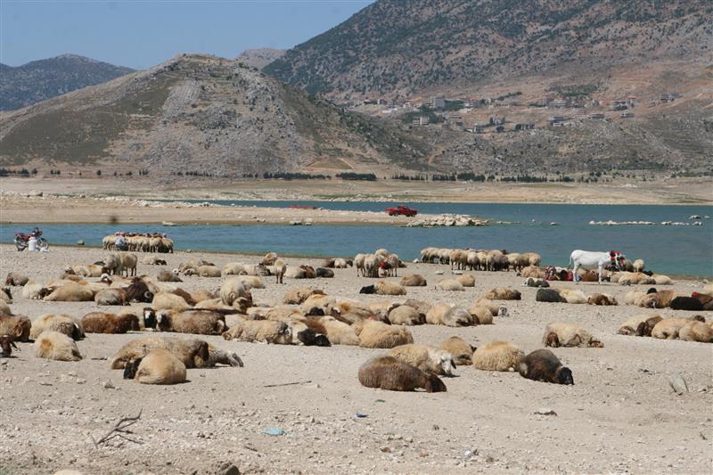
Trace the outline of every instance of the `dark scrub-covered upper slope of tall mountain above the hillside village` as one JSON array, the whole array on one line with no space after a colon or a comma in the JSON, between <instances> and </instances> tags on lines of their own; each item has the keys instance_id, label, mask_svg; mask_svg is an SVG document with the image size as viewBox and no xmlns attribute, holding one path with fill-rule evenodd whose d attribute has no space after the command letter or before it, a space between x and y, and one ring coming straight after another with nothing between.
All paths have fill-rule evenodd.
<instances>
[{"instance_id":1,"label":"dark scrub-covered upper slope of tall mountain above the hillside village","mask_svg":"<svg viewBox=\"0 0 713 475\"><path fill-rule=\"evenodd\" d=\"M709 0L379 0L265 71L334 99L709 61ZM708 59L708 60L706 60Z\"/></svg>"}]
</instances>

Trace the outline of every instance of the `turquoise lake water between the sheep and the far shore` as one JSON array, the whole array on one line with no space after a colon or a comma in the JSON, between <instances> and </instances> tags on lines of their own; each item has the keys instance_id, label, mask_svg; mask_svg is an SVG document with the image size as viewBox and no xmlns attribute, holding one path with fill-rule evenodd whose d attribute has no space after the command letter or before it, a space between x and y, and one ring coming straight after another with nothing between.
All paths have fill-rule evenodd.
<instances>
[{"instance_id":1,"label":"turquoise lake water between the sheep and the far shore","mask_svg":"<svg viewBox=\"0 0 713 475\"><path fill-rule=\"evenodd\" d=\"M242 206L287 207L312 204L328 209L381 211L392 204L408 204L423 213L462 213L496 220L520 221L519 225L485 227L407 228L380 225L120 225L135 232L168 233L178 250L225 250L284 255L353 256L358 252L387 248L401 258L413 259L427 246L535 251L543 262L565 266L570 252L621 250L629 258L643 258L647 267L665 274L713 276L713 220L702 226L588 225L601 221L684 221L691 215L713 216L713 207L634 205L548 205L479 203L374 203L336 201L225 201ZM558 225L552 226L550 222ZM0 241L12 242L15 231L33 225L0 226ZM101 245L102 237L116 225L43 225L50 243Z\"/></svg>"}]
</instances>

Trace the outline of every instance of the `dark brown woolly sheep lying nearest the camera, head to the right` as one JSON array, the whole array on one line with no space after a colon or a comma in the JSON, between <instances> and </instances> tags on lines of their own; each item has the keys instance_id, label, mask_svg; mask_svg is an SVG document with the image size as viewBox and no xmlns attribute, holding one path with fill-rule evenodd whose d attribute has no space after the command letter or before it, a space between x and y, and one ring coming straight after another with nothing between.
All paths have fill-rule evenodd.
<instances>
[{"instance_id":1,"label":"dark brown woolly sheep lying nearest the camera, head to the right","mask_svg":"<svg viewBox=\"0 0 713 475\"><path fill-rule=\"evenodd\" d=\"M393 356L381 356L367 361L359 368L358 379L366 388L389 391L446 392L446 385L435 374L423 373L420 369L398 361Z\"/></svg>"}]
</instances>

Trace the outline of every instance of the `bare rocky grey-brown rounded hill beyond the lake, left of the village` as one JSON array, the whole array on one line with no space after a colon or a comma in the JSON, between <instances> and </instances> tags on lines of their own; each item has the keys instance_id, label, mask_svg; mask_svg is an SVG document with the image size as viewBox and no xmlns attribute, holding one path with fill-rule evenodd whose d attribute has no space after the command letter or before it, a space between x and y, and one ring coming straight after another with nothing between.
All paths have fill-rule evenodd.
<instances>
[{"instance_id":1,"label":"bare rocky grey-brown rounded hill beyond the lake, left of the village","mask_svg":"<svg viewBox=\"0 0 713 475\"><path fill-rule=\"evenodd\" d=\"M429 149L398 127L239 61L182 54L0 114L0 166L39 163L216 175L406 167Z\"/></svg>"}]
</instances>

